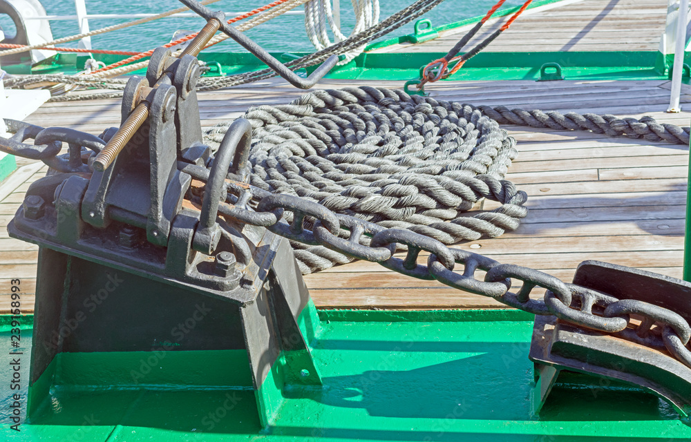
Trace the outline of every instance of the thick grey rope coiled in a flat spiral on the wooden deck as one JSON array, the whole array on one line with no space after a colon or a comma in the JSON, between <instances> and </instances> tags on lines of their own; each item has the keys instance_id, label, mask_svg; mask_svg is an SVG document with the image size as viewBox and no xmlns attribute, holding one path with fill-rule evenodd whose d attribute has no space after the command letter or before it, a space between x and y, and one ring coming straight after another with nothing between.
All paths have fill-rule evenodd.
<instances>
[{"instance_id":1,"label":"thick grey rope coiled in a flat spiral on the wooden deck","mask_svg":"<svg viewBox=\"0 0 691 442\"><path fill-rule=\"evenodd\" d=\"M250 108L251 183L444 244L516 229L527 195L504 180L515 140L479 109L386 88L315 90ZM230 122L207 131L218 146ZM489 198L502 205L466 213ZM351 259L293 244L303 273Z\"/></svg>"}]
</instances>

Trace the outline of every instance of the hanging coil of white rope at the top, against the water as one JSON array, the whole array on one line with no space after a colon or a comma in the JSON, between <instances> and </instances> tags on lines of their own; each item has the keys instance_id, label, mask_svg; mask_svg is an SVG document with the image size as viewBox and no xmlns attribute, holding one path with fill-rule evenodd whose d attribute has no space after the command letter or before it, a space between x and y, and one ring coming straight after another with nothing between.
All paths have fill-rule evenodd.
<instances>
[{"instance_id":1,"label":"hanging coil of white rope at the top, against the water","mask_svg":"<svg viewBox=\"0 0 691 442\"><path fill-rule=\"evenodd\" d=\"M343 35L334 21L331 8L332 0L309 0L305 3L305 30L307 37L317 50L328 48L352 35L357 35L379 23L379 0L351 0L355 13L355 26L350 35ZM330 40L328 30L334 35L334 42ZM345 59L339 65L346 64L362 53L365 46L359 46L345 52Z\"/></svg>"}]
</instances>

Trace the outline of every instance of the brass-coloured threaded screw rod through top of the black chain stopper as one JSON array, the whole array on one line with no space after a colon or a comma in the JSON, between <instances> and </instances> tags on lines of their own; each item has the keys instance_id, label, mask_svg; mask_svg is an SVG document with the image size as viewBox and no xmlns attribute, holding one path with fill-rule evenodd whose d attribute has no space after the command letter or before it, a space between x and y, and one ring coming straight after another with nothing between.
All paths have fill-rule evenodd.
<instances>
[{"instance_id":1,"label":"brass-coloured threaded screw rod through top of the black chain stopper","mask_svg":"<svg viewBox=\"0 0 691 442\"><path fill-rule=\"evenodd\" d=\"M196 57L204 46L207 46L207 43L209 43L211 37L214 37L219 28L220 21L216 19L207 21L207 24L198 32L187 48L184 48L180 57L182 55ZM134 108L134 111L127 117L122 126L117 129L111 140L108 140L103 150L93 159L93 170L102 172L113 164L115 157L122 151L139 128L142 127L142 124L144 124L148 117L149 102L141 102Z\"/></svg>"}]
</instances>

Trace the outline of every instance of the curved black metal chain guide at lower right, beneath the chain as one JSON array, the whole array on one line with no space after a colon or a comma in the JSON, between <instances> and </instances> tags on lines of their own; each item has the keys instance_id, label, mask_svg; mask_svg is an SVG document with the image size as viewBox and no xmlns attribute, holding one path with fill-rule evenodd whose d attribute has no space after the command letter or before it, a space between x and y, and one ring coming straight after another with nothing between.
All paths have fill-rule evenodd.
<instances>
[{"instance_id":1,"label":"curved black metal chain guide at lower right, beneath the chain","mask_svg":"<svg viewBox=\"0 0 691 442\"><path fill-rule=\"evenodd\" d=\"M674 309L684 318L691 317L691 284L668 276L585 261L578 267L574 284L620 299L643 300ZM540 412L560 372L567 370L651 392L672 405L682 420L688 420L691 369L663 347L651 348L565 323L555 316L536 316L529 358L536 372L533 412Z\"/></svg>"}]
</instances>

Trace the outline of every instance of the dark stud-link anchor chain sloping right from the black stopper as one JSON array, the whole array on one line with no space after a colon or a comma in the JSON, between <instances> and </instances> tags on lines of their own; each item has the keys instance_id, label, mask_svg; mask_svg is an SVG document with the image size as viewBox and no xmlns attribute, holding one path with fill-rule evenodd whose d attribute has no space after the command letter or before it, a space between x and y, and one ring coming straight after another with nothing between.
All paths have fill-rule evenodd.
<instances>
[{"instance_id":1,"label":"dark stud-link anchor chain sloping right from the black stopper","mask_svg":"<svg viewBox=\"0 0 691 442\"><path fill-rule=\"evenodd\" d=\"M322 245L345 256L377 262L388 269L422 280L437 280L448 287L489 296L504 305L536 315L553 315L567 323L612 334L625 340L666 349L674 358L691 367L691 351L687 344L691 326L681 315L670 309L640 300L620 300L580 285L562 280L530 267L502 264L486 256L446 247L428 236L406 229L386 229L372 222L349 215L337 214L321 204L293 195L272 194L245 183L227 180L230 202L234 204L232 218L247 222L277 218L276 211L292 213L290 224L283 218L274 224L263 225L269 231L293 241ZM250 204L256 204L256 210ZM222 206L229 206L223 203ZM305 221L313 224L313 231L305 228ZM369 237L369 244L363 238ZM397 250L406 249L403 258ZM426 251L426 262L419 253ZM458 269L457 265L462 268ZM476 278L477 270L486 272ZM522 282L518 291L511 291L513 280ZM547 289L544 298L531 294L536 287Z\"/></svg>"}]
</instances>

